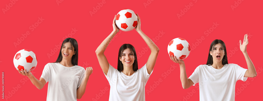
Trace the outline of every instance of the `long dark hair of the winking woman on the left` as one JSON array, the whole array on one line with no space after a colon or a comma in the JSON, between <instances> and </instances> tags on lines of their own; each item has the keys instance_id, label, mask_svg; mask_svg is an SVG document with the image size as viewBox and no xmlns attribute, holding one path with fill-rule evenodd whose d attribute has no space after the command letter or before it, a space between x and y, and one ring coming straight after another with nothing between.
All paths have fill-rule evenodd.
<instances>
[{"instance_id":1,"label":"long dark hair of the winking woman on the left","mask_svg":"<svg viewBox=\"0 0 263 101\"><path fill-rule=\"evenodd\" d=\"M70 46L71 47L74 47L74 51L76 52L75 55L72 56L71 58L71 63L73 65L78 65L78 52L79 52L79 49L78 49L78 42L77 40L75 40L74 38L66 38L63 42L62 42L62 45L61 45L61 48L60 48L60 51L59 51L59 54L58 54L58 59L54 62L54 63L58 63L60 61L62 61L62 47L63 45L66 43L66 42L69 42L70 43Z\"/></svg>"}]
</instances>

